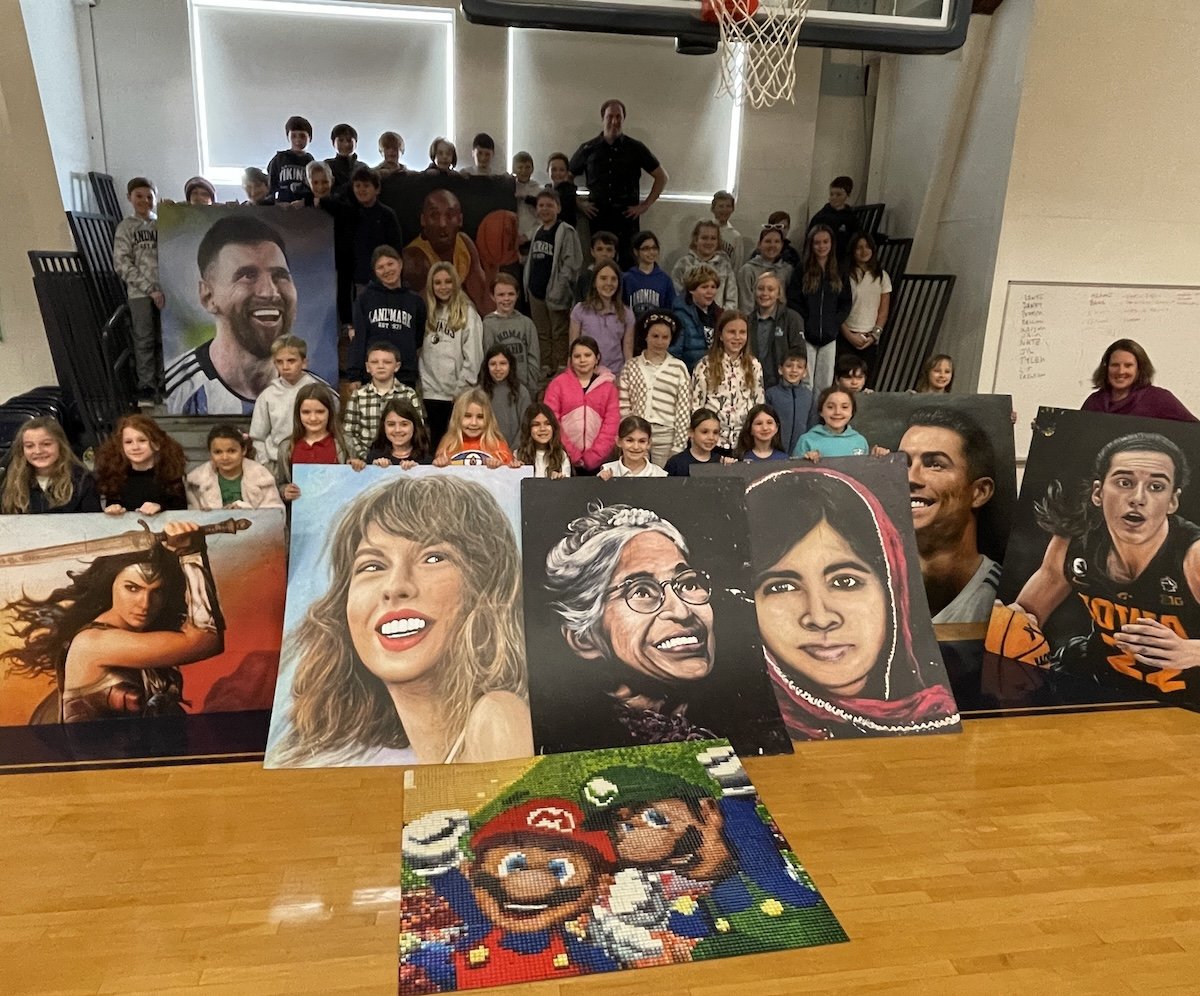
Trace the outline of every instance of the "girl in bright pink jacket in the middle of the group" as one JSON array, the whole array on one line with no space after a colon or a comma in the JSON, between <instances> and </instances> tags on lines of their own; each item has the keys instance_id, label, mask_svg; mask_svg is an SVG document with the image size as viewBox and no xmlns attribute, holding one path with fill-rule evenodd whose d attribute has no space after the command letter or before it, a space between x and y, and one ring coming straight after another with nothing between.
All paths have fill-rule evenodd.
<instances>
[{"instance_id":1,"label":"girl in bright pink jacket in the middle of the group","mask_svg":"<svg viewBox=\"0 0 1200 996\"><path fill-rule=\"evenodd\" d=\"M617 380L600 366L600 347L592 336L571 343L570 366L546 386L546 404L558 418L575 473L595 474L612 455L620 406Z\"/></svg>"}]
</instances>

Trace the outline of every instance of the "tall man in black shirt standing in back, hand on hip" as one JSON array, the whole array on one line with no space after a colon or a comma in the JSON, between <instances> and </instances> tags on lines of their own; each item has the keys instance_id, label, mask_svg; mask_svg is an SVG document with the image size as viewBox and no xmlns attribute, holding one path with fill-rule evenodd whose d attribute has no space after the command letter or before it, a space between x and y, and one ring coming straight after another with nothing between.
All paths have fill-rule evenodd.
<instances>
[{"instance_id":1,"label":"tall man in black shirt standing in back, hand on hip","mask_svg":"<svg viewBox=\"0 0 1200 996\"><path fill-rule=\"evenodd\" d=\"M588 199L581 210L592 220L593 232L617 235L620 268L628 270L635 263L630 240L638 229L637 220L659 199L667 172L646 145L624 133L625 104L616 98L605 101L600 118L604 131L575 150L569 169L587 178ZM646 200L638 190L643 170L654 180Z\"/></svg>"}]
</instances>

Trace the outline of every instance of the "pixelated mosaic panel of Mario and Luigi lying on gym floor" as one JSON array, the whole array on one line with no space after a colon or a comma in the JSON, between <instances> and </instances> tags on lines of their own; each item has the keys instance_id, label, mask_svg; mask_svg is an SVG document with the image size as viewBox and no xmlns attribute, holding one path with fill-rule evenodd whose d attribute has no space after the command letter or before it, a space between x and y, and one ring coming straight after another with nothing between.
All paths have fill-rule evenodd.
<instances>
[{"instance_id":1,"label":"pixelated mosaic panel of Mario and Luigi lying on gym floor","mask_svg":"<svg viewBox=\"0 0 1200 996\"><path fill-rule=\"evenodd\" d=\"M847 940L725 742L412 774L401 994Z\"/></svg>"}]
</instances>

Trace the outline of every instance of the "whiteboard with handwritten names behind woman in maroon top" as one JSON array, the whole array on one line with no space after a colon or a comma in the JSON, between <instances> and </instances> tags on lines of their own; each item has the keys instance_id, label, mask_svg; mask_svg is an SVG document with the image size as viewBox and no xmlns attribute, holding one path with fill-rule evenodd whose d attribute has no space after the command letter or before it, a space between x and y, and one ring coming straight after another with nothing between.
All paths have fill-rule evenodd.
<instances>
[{"instance_id":1,"label":"whiteboard with handwritten names behind woman in maroon top","mask_svg":"<svg viewBox=\"0 0 1200 996\"><path fill-rule=\"evenodd\" d=\"M991 391L1013 396L1018 458L1038 406L1079 408L1118 338L1140 342L1154 383L1200 410L1200 287L1009 282Z\"/></svg>"}]
</instances>

